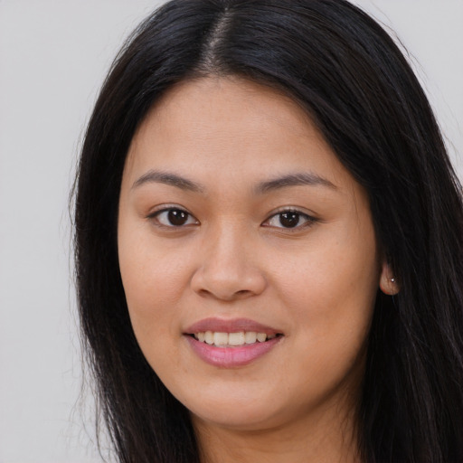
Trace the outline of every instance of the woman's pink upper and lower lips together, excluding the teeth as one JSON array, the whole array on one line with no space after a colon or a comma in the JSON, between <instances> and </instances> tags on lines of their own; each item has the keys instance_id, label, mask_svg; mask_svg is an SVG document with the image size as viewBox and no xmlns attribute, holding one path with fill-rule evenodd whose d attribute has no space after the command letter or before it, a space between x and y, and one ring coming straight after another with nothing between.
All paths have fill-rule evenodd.
<instances>
[{"instance_id":1,"label":"woman's pink upper and lower lips together, excluding the teeth","mask_svg":"<svg viewBox=\"0 0 463 463\"><path fill-rule=\"evenodd\" d=\"M193 349L194 354L197 354L206 364L222 368L233 368L250 364L262 355L267 354L283 337L277 336L264 343L256 342L254 344L234 347L216 347L215 345L202 343L193 336L195 333L204 333L206 331L219 333L254 331L256 333L265 333L266 335L281 335L282 333L275 328L262 325L248 318L234 318L231 320L204 318L189 326L184 332L184 337Z\"/></svg>"}]
</instances>

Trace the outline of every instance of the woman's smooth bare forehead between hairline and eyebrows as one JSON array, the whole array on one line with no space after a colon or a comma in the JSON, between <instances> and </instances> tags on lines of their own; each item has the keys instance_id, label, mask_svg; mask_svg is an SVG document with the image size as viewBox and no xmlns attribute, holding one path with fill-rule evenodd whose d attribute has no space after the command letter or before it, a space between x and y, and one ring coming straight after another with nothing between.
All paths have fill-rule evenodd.
<instances>
[{"instance_id":1,"label":"woman's smooth bare forehead between hairline and eyebrows","mask_svg":"<svg viewBox=\"0 0 463 463\"><path fill-rule=\"evenodd\" d=\"M231 77L184 81L156 102L132 140L125 174L155 167L226 174L237 184L300 170L353 181L296 102Z\"/></svg>"}]
</instances>

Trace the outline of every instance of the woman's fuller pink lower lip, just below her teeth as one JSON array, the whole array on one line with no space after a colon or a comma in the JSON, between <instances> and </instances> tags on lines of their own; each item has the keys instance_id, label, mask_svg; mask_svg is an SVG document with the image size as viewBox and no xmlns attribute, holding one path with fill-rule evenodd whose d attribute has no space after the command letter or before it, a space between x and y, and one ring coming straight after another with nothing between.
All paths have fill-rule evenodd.
<instances>
[{"instance_id":1,"label":"woman's fuller pink lower lip, just below her teeth","mask_svg":"<svg viewBox=\"0 0 463 463\"><path fill-rule=\"evenodd\" d=\"M216 347L215 345L202 343L190 335L186 335L185 337L194 350L194 353L206 364L222 368L233 368L250 364L262 355L267 354L279 343L283 336L274 337L264 343L257 342L239 347Z\"/></svg>"}]
</instances>

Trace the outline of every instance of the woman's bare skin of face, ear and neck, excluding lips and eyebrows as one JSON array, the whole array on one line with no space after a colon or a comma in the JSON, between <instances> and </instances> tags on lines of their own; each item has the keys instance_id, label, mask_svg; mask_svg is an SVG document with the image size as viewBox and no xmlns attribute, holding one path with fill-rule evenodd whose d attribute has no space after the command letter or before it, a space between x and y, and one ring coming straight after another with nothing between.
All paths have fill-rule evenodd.
<instances>
[{"instance_id":1,"label":"woman's bare skin of face, ear and neck, excluding lips and eyebrows","mask_svg":"<svg viewBox=\"0 0 463 463\"><path fill-rule=\"evenodd\" d=\"M146 180L153 171L200 186ZM258 191L298 173L317 182ZM187 213L184 225L166 207ZM281 222L288 209L296 227ZM118 253L137 341L191 411L203 461L358 461L374 299L396 288L364 189L296 103L231 77L169 90L129 149ZM283 336L250 364L216 367L184 335L208 317Z\"/></svg>"}]
</instances>

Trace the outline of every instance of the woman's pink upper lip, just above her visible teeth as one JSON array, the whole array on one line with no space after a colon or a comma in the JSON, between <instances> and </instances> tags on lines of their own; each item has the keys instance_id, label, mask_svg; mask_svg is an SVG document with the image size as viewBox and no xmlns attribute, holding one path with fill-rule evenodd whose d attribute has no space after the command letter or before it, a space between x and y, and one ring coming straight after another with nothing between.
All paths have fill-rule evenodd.
<instances>
[{"instance_id":1,"label":"woman's pink upper lip, just above her visible teeth","mask_svg":"<svg viewBox=\"0 0 463 463\"><path fill-rule=\"evenodd\" d=\"M213 331L216 333L238 333L240 331L253 331L256 333L265 333L266 335L282 334L281 330L271 326L262 325L249 318L203 318L195 322L192 326L188 326L184 331L185 335L194 335L195 333L203 333L205 331Z\"/></svg>"}]
</instances>

